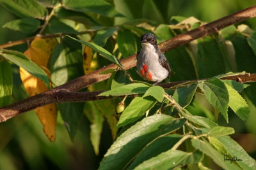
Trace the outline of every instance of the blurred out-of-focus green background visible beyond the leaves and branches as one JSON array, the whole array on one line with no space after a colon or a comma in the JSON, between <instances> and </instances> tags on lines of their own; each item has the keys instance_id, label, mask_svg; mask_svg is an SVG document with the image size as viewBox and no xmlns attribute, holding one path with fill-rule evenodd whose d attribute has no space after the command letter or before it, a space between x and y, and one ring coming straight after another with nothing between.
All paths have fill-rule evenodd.
<instances>
[{"instance_id":1,"label":"blurred out-of-focus green background visible beyond the leaves and branches","mask_svg":"<svg viewBox=\"0 0 256 170\"><path fill-rule=\"evenodd\" d=\"M116 10L125 15L125 11L122 11L123 1L108 0L109 3L116 5ZM45 3L45 1L42 1L42 3ZM136 1L134 1L135 3ZM157 5L161 6L161 9L164 9L164 11L152 9L152 12L148 12L150 11L148 10L150 1L145 0L145 4L141 7L141 10L143 10L143 16L141 17L154 20L157 24L169 24L170 17L176 15L184 17L193 16L204 22L211 22L254 4L254 0L166 0L157 1ZM7 11L3 6L0 6L0 16L0 44L32 36L2 28L6 22L18 19L18 17ZM122 20L129 20L132 17L136 18L136 16L120 18L116 20L116 24L122 22ZM253 30L256 30L255 18L245 21L244 24L250 25ZM27 47L24 44L13 46L11 49L24 52ZM13 87L13 96L17 100L26 98L27 94L24 88L22 88L19 69L16 66L13 66L13 79L15 86ZM197 97L198 101L200 101L200 96ZM256 114L254 114L256 113L256 108L253 104L250 104L250 110L250 118L245 122L235 114L230 114L229 124L226 124L225 120L221 119L222 117L218 120L218 124L234 127L236 134L232 137L255 159L256 146L246 145L247 140L254 140L254 143L256 143L256 127L254 123L256 120ZM200 111L198 111L198 114L200 114ZM38 167L40 169L97 169L104 153L106 153L112 143L111 132L108 125L104 123L99 155L95 155L93 151L89 132L90 122L86 117L83 117L74 141L70 141L68 133L63 126L63 121L58 116L56 141L49 142L42 131L42 124L40 124L34 111L12 118L0 124L0 169L38 169Z\"/></svg>"}]
</instances>

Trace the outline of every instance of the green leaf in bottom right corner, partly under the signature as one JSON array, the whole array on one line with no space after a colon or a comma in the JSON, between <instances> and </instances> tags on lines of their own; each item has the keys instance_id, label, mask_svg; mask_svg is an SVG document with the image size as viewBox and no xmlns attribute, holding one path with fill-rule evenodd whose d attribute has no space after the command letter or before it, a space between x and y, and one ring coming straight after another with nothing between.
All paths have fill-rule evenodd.
<instances>
[{"instance_id":1,"label":"green leaf in bottom right corner, partly under the signature","mask_svg":"<svg viewBox=\"0 0 256 170\"><path fill-rule=\"evenodd\" d=\"M248 153L246 153L246 151L240 145L238 145L236 141L229 136L220 136L217 137L217 139L222 143L232 157L242 160L236 162L242 167L242 169L256 169L255 159L250 157L250 155L248 155ZM230 161L227 162L230 164Z\"/></svg>"}]
</instances>

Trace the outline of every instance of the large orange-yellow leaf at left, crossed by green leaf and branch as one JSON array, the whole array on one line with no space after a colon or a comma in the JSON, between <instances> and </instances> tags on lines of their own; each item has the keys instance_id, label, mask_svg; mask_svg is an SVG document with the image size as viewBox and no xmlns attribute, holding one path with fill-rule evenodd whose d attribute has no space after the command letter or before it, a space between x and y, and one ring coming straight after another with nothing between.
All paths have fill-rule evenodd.
<instances>
[{"instance_id":1,"label":"large orange-yellow leaf at left, crossed by green leaf and branch","mask_svg":"<svg viewBox=\"0 0 256 170\"><path fill-rule=\"evenodd\" d=\"M24 54L40 66L49 76L49 70L47 70L47 62L51 56L52 51L58 45L56 39L53 38L35 38L28 50ZM22 83L27 90L29 96L35 96L45 92L47 89L44 82L35 76L28 73L22 67L20 67L20 78ZM44 132L50 141L55 139L56 131L56 109L54 104L48 104L40 108L36 108L36 115L40 119L40 122L44 126Z\"/></svg>"}]
</instances>

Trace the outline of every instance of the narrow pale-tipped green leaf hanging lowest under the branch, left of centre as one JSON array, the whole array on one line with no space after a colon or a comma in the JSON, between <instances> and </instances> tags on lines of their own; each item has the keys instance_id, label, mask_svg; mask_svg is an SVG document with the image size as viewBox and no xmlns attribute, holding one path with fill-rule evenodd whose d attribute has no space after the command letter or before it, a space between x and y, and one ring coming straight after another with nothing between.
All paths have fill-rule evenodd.
<instances>
[{"instance_id":1,"label":"narrow pale-tipped green leaf hanging lowest under the branch, left of centre","mask_svg":"<svg viewBox=\"0 0 256 170\"><path fill-rule=\"evenodd\" d=\"M84 114L91 122L90 140L92 142L95 154L99 155L100 135L103 129L104 118L92 101L85 103Z\"/></svg>"}]
</instances>

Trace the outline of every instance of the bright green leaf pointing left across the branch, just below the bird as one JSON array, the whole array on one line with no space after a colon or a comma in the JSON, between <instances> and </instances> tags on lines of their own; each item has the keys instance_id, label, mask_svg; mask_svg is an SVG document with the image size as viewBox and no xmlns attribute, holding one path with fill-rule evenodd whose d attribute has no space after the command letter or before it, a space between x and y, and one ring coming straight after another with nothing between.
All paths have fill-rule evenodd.
<instances>
[{"instance_id":1,"label":"bright green leaf pointing left across the branch, just below the bird","mask_svg":"<svg viewBox=\"0 0 256 170\"><path fill-rule=\"evenodd\" d=\"M102 92L99 96L125 96L130 94L141 94L148 90L148 85L143 83L131 83L128 85L123 85L116 89L111 89L106 92Z\"/></svg>"}]
</instances>

